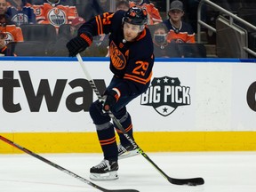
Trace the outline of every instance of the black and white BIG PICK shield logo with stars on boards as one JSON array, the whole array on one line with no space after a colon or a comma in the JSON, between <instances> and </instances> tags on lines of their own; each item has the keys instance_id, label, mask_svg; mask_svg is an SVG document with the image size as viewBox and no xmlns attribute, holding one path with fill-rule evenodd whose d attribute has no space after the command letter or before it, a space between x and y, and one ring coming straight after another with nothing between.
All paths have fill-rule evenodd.
<instances>
[{"instance_id":1,"label":"black and white BIG PICK shield logo with stars on boards","mask_svg":"<svg viewBox=\"0 0 256 192\"><path fill-rule=\"evenodd\" d=\"M190 105L190 87L181 86L179 78L155 77L140 104L152 106L161 116L169 116L179 106Z\"/></svg>"}]
</instances>

